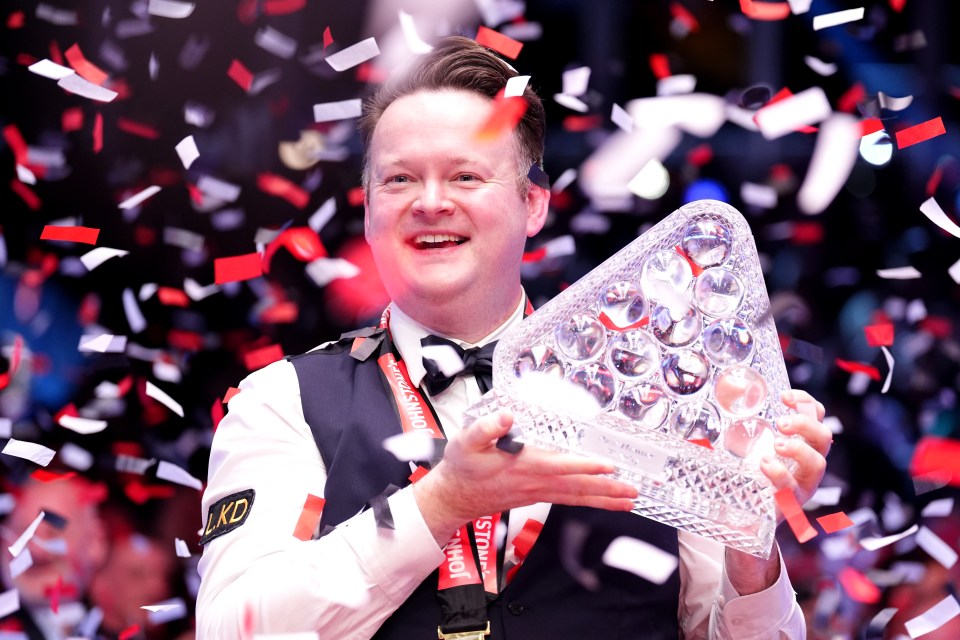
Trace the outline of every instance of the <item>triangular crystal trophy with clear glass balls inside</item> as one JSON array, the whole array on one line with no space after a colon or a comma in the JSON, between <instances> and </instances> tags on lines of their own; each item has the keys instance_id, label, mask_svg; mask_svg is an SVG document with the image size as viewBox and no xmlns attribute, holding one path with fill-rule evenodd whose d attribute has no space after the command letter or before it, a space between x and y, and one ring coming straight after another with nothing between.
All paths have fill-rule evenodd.
<instances>
[{"instance_id":1,"label":"triangular crystal trophy with clear glass balls inside","mask_svg":"<svg viewBox=\"0 0 960 640\"><path fill-rule=\"evenodd\" d=\"M766 558L776 505L759 462L787 388L750 228L700 200L505 334L467 421L509 408L519 442L613 461L634 513Z\"/></svg>"}]
</instances>

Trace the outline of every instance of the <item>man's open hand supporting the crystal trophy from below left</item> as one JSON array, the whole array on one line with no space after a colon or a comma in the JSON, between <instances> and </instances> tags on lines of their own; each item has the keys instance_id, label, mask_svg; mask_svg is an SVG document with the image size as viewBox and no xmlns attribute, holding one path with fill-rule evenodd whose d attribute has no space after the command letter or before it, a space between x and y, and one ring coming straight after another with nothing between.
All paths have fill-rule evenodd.
<instances>
[{"instance_id":1,"label":"man's open hand supporting the crystal trophy from below left","mask_svg":"<svg viewBox=\"0 0 960 640\"><path fill-rule=\"evenodd\" d=\"M633 509L636 489L603 477L613 472L610 463L536 447L516 454L498 449L512 426L507 411L477 420L450 439L443 460L414 485L437 544L470 520L537 502Z\"/></svg>"}]
</instances>

